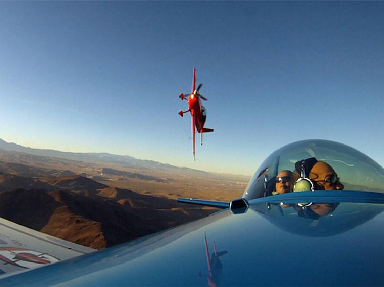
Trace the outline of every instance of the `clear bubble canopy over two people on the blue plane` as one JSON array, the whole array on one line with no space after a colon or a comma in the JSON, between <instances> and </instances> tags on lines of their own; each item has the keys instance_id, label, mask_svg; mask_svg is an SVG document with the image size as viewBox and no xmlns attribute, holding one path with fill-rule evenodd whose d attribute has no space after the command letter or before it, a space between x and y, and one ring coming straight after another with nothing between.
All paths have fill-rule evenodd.
<instances>
[{"instance_id":1,"label":"clear bubble canopy over two people on the blue plane","mask_svg":"<svg viewBox=\"0 0 384 287\"><path fill-rule=\"evenodd\" d=\"M384 169L365 154L329 140L302 140L272 153L255 172L243 197L247 200L298 190L308 178L314 190L339 189L384 193ZM279 190L279 181L288 181ZM296 189L295 189L296 188ZM310 190L310 189L306 189Z\"/></svg>"}]
</instances>

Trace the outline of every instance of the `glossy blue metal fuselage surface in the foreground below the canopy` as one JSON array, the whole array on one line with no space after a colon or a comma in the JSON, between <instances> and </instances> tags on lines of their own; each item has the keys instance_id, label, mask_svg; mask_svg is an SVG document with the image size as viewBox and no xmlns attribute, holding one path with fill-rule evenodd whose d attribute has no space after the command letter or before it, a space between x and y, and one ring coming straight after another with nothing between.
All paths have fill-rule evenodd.
<instances>
[{"instance_id":1,"label":"glossy blue metal fuselage surface in the foreground below the canopy","mask_svg":"<svg viewBox=\"0 0 384 287\"><path fill-rule=\"evenodd\" d=\"M384 285L384 205L365 203L362 193L327 193L327 200L341 198L340 203L317 219L300 215L292 203L282 207L269 197L271 202L251 202L242 214L226 209L131 243L5 278L0 285ZM302 196L292 193L290 202L294 195ZM219 258L222 268L216 277L208 271L204 232L209 253L214 252L213 242L219 251L227 251Z\"/></svg>"}]
</instances>

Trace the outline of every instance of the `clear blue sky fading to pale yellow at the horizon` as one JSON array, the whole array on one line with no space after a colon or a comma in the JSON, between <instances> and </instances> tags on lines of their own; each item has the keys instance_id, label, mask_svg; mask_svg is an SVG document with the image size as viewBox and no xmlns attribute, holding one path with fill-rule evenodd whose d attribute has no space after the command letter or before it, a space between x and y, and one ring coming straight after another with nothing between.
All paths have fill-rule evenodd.
<instances>
[{"instance_id":1,"label":"clear blue sky fading to pale yellow at the horizon","mask_svg":"<svg viewBox=\"0 0 384 287\"><path fill-rule=\"evenodd\" d=\"M321 138L384 164L384 2L0 2L0 138L251 175ZM193 67L214 133L191 153Z\"/></svg>"}]
</instances>

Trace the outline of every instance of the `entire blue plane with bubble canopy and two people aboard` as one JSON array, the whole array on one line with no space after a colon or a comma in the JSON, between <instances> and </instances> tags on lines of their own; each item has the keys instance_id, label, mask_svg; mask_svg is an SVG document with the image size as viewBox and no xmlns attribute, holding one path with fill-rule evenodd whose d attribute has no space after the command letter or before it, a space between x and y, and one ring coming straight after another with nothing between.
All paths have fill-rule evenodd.
<instances>
[{"instance_id":1,"label":"entire blue plane with bubble canopy and two people aboard","mask_svg":"<svg viewBox=\"0 0 384 287\"><path fill-rule=\"evenodd\" d=\"M206 281L196 274L208 265L210 285L381 286L383 182L382 167L350 147L295 142L261 164L241 199L182 200L223 208L209 217L9 276L0 285L200 286ZM205 231L229 252L202 260Z\"/></svg>"}]
</instances>

